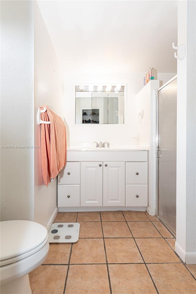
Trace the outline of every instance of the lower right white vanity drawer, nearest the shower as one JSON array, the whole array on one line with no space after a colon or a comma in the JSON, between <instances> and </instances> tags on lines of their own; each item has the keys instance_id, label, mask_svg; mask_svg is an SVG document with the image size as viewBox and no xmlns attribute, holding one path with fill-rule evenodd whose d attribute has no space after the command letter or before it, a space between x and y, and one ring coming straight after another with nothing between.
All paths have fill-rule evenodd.
<instances>
[{"instance_id":1,"label":"lower right white vanity drawer, nearest the shower","mask_svg":"<svg viewBox=\"0 0 196 294\"><path fill-rule=\"evenodd\" d=\"M126 185L126 206L148 206L148 185Z\"/></svg>"}]
</instances>

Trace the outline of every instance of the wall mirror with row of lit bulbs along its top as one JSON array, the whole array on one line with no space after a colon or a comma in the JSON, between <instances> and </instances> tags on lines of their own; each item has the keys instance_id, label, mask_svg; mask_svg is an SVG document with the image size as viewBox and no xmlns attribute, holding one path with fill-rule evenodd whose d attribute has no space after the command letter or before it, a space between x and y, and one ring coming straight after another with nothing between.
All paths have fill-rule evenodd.
<instances>
[{"instance_id":1,"label":"wall mirror with row of lit bulbs along its top","mask_svg":"<svg viewBox=\"0 0 196 294\"><path fill-rule=\"evenodd\" d=\"M120 85L76 86L75 122L81 124L123 124L124 87Z\"/></svg>"}]
</instances>

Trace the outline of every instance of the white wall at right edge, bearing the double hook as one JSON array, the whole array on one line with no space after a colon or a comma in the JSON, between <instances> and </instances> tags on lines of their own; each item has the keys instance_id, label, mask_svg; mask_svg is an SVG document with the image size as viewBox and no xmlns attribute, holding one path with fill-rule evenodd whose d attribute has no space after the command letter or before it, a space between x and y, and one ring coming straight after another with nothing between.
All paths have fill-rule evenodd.
<instances>
[{"instance_id":1,"label":"white wall at right edge, bearing the double hook","mask_svg":"<svg viewBox=\"0 0 196 294\"><path fill-rule=\"evenodd\" d=\"M177 179L175 251L183 262L196 263L196 2L178 7Z\"/></svg>"}]
</instances>

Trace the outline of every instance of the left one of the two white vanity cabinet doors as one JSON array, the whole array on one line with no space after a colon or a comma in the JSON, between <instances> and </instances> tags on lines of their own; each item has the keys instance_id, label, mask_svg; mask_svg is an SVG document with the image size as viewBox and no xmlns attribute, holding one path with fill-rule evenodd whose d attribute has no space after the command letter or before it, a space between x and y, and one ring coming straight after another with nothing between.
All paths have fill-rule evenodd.
<instances>
[{"instance_id":1,"label":"left one of the two white vanity cabinet doors","mask_svg":"<svg viewBox=\"0 0 196 294\"><path fill-rule=\"evenodd\" d=\"M81 162L81 206L102 206L103 162Z\"/></svg>"}]
</instances>

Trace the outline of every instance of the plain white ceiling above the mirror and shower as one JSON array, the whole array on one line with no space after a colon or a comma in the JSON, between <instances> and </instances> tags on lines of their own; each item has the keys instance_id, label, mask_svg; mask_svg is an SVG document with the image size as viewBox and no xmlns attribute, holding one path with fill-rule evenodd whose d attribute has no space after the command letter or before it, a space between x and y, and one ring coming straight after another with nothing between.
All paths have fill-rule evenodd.
<instances>
[{"instance_id":1,"label":"plain white ceiling above the mirror and shower","mask_svg":"<svg viewBox=\"0 0 196 294\"><path fill-rule=\"evenodd\" d=\"M65 72L177 72L179 1L37 1Z\"/></svg>"}]
</instances>

